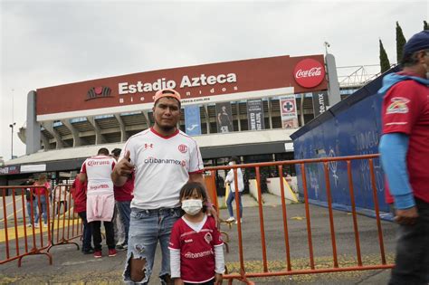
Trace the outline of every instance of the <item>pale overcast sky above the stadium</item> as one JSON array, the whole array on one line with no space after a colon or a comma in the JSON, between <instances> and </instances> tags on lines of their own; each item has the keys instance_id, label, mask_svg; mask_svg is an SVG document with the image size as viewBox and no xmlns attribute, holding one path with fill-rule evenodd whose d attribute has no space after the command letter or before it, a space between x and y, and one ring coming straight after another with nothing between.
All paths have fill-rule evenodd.
<instances>
[{"instance_id":1,"label":"pale overcast sky above the stadium","mask_svg":"<svg viewBox=\"0 0 429 285\"><path fill-rule=\"evenodd\" d=\"M0 157L25 154L16 135L28 91L142 71L278 55L323 54L337 66L396 62L423 29L428 1L1 1ZM14 104L13 104L14 103ZM14 106L14 108L13 108Z\"/></svg>"}]
</instances>

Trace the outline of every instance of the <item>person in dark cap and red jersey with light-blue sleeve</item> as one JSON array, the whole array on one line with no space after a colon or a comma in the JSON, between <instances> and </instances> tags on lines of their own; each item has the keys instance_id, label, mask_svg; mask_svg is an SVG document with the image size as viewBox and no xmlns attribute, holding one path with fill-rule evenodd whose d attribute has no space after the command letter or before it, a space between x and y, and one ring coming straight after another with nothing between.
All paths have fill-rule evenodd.
<instances>
[{"instance_id":1,"label":"person in dark cap and red jersey with light-blue sleeve","mask_svg":"<svg viewBox=\"0 0 429 285\"><path fill-rule=\"evenodd\" d=\"M390 285L429 284L429 31L405 43L383 87L380 155L399 223Z\"/></svg>"}]
</instances>

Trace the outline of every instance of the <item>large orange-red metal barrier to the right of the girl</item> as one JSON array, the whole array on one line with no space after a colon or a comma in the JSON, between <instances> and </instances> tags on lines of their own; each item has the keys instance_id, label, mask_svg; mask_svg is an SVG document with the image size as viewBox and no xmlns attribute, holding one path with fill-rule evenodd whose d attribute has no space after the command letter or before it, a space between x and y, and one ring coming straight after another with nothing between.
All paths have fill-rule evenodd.
<instances>
[{"instance_id":1,"label":"large orange-red metal barrier to the right of the girl","mask_svg":"<svg viewBox=\"0 0 429 285\"><path fill-rule=\"evenodd\" d=\"M209 194L211 195L212 201L214 201L217 206L217 193L216 193L216 185L215 185L215 175L218 170L229 170L234 169L234 185L235 189L238 189L237 182L237 170L236 168L254 168L256 174L257 181L257 190L258 190L258 203L259 203L259 218L260 218L260 227L261 227L261 249L262 249L262 266L263 271L253 271L246 272L246 267L244 265L243 258L243 235L242 235L242 223L241 219L237 219L237 232L238 232L238 253L240 260L240 273L231 273L225 274L224 279L229 280L229 284L232 284L233 280L241 280L248 284L253 284L252 280L248 280L248 278L259 278L259 277L272 277L272 276L286 276L286 275L294 275L294 274L310 274L310 273L327 273L327 272L338 272L338 271L366 271L366 270L381 270L381 269L390 269L394 265L386 263L386 253L385 246L383 242L383 232L381 227L381 219L378 208L378 200L377 200L377 184L376 177L374 174L374 158L377 158L378 155L365 155L365 156L351 156L351 157L326 157L326 158L318 158L318 159L302 159L302 160L291 160L291 161L278 161L272 163L256 163L256 164L246 164L246 165L237 165L237 166L213 166L206 167L205 171L209 171L211 176L208 176L205 179L207 189L209 190ZM357 210L355 204L355 193L353 188L353 176L352 176L352 168L351 162L357 159L367 159L369 164L370 171L370 184L373 192L373 199L375 204L375 213L377 220L377 234L378 234L378 244L380 250L380 264L369 264L365 265L362 261L362 254L360 249L360 238L359 238L359 230L358 230L358 218L357 218ZM338 265L338 253L337 253L337 242L336 242L336 233L333 219L333 211L332 211L332 196L330 193L330 184L329 184L329 163L333 161L345 161L347 163L348 169L348 194L351 199L351 214L353 221L353 230L355 235L355 244L356 244L356 255L353 254L352 258L357 258L357 264L355 266L347 266L340 267ZM321 163L323 164L323 169L325 173L325 184L326 184L326 192L328 198L328 211L329 211L329 230L330 230L330 246L332 248L332 265L330 267L317 267L315 264L315 256L313 251L313 242L312 242L312 233L311 233L311 220L310 220L310 207L309 207L309 196L308 196L308 181L306 176L306 168L307 164ZM305 219L306 219L306 228L307 228L307 236L308 236L308 251L309 251L309 264L310 268L308 269L293 269L291 262L291 247L290 247L290 228L288 226L288 216L286 211L286 203L285 203L285 192L284 185L282 183L283 180L283 166L295 165L300 167L301 173L301 183L303 187L303 200L305 203ZM265 238L265 227L264 227L264 218L263 218L263 207L262 207L262 191L261 191L261 167L266 166L277 166L279 176L280 176L280 187L281 187L281 214L282 214L282 226L284 231L284 248L286 252L285 256L285 264L286 268L282 271L269 271L268 269L268 260L267 260L267 247L266 247L266 238ZM238 200L238 192L235 192L235 209L236 216L239 217L239 200ZM216 207L219 211L219 207ZM327 237L329 239L329 237ZM329 245L329 244L327 244ZM351 252L350 252L351 253Z\"/></svg>"}]
</instances>

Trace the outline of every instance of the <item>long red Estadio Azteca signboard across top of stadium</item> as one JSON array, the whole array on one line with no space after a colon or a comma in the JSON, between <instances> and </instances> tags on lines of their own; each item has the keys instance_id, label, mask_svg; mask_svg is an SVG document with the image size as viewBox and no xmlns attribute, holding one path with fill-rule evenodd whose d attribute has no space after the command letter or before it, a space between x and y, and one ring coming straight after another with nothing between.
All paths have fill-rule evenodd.
<instances>
[{"instance_id":1,"label":"long red Estadio Azteca signboard across top of stadium","mask_svg":"<svg viewBox=\"0 0 429 285\"><path fill-rule=\"evenodd\" d=\"M327 90L323 55L289 55L146 71L37 90L37 120L152 109L157 90L173 88L182 105L262 99Z\"/></svg>"}]
</instances>

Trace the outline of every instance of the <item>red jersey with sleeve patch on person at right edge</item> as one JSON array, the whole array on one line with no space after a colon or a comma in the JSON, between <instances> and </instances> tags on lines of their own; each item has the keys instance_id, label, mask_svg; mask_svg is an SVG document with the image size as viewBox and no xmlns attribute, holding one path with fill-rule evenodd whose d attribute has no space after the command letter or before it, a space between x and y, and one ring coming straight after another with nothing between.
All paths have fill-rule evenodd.
<instances>
[{"instance_id":1,"label":"red jersey with sleeve patch on person at right edge","mask_svg":"<svg viewBox=\"0 0 429 285\"><path fill-rule=\"evenodd\" d=\"M383 98L383 134L404 133L409 145L406 166L414 195L429 202L429 89L416 81L401 81ZM421 157L421 158L419 158ZM424 158L426 157L426 158Z\"/></svg>"}]
</instances>

